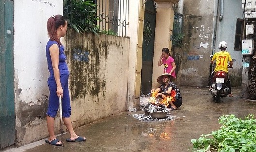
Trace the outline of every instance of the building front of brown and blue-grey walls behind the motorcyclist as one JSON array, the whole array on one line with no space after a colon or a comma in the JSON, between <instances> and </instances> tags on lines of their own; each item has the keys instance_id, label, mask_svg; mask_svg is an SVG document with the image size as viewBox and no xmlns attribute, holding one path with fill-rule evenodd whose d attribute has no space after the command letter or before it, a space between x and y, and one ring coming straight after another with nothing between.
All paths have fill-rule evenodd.
<instances>
[{"instance_id":1,"label":"building front of brown and blue-grey walls behind the motorcyclist","mask_svg":"<svg viewBox=\"0 0 256 152\"><path fill-rule=\"evenodd\" d=\"M209 74L213 71L210 55L218 51L221 41L226 41L227 51L236 59L234 69L229 69L231 85L241 86L242 1L180 0L177 9L183 12L185 33L181 51L174 53L182 55L182 60L176 62L181 66L178 78L181 85L207 86Z\"/></svg>"}]
</instances>

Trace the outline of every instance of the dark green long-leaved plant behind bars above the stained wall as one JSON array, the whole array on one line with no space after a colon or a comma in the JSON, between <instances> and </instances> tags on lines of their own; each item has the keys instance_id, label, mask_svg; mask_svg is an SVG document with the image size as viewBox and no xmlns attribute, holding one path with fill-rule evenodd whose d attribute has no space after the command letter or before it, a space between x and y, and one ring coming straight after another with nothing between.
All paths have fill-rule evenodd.
<instances>
[{"instance_id":1,"label":"dark green long-leaved plant behind bars above the stained wall","mask_svg":"<svg viewBox=\"0 0 256 152\"><path fill-rule=\"evenodd\" d=\"M96 35L100 33L96 21L101 20L96 15L97 5L93 1L64 0L63 3L63 14L69 27L74 28L78 33L85 31L91 31Z\"/></svg>"}]
</instances>

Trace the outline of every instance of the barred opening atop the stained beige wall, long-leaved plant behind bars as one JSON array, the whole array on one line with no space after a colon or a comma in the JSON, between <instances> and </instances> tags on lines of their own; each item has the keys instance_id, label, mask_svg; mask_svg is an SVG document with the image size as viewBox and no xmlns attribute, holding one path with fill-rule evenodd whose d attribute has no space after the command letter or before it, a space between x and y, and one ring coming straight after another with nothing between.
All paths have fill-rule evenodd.
<instances>
[{"instance_id":1,"label":"barred opening atop the stained beige wall, long-leaved plant behind bars","mask_svg":"<svg viewBox=\"0 0 256 152\"><path fill-rule=\"evenodd\" d=\"M63 14L77 32L128 36L129 0L64 0Z\"/></svg>"}]
</instances>

